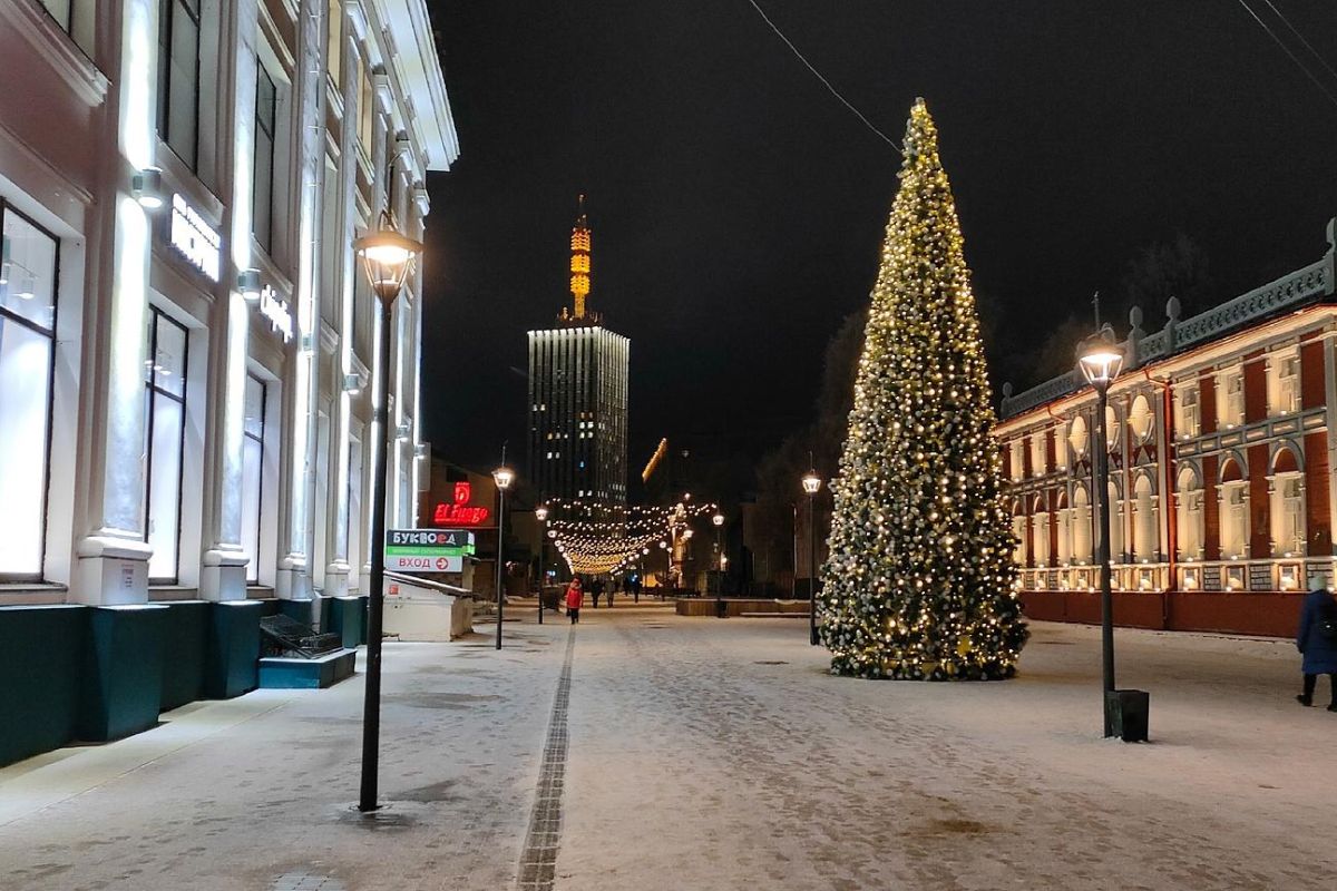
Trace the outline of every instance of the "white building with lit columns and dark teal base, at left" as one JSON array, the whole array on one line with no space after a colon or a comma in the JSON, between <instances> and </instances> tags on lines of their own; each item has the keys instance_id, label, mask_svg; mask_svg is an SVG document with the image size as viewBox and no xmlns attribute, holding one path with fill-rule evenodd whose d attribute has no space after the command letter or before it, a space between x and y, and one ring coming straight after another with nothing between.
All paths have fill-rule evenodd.
<instances>
[{"instance_id":1,"label":"white building with lit columns and dark teal base, at left","mask_svg":"<svg viewBox=\"0 0 1337 891\"><path fill-rule=\"evenodd\" d=\"M51 725L4 763L243 692L258 612L356 643L377 442L416 520L422 277L373 382L350 244L421 239L459 147L424 0L0 0L0 649L74 688L0 699Z\"/></svg>"}]
</instances>

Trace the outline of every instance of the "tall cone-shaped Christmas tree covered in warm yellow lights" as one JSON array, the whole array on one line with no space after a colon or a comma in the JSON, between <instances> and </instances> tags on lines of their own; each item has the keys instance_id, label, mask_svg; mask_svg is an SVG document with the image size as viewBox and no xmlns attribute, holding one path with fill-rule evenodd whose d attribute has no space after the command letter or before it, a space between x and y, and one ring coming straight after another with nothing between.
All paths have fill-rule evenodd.
<instances>
[{"instance_id":1,"label":"tall cone-shaped Christmas tree covered in warm yellow lights","mask_svg":"<svg viewBox=\"0 0 1337 891\"><path fill-rule=\"evenodd\" d=\"M822 568L832 671L999 679L1027 639L1001 457L937 128L917 100L833 482Z\"/></svg>"}]
</instances>

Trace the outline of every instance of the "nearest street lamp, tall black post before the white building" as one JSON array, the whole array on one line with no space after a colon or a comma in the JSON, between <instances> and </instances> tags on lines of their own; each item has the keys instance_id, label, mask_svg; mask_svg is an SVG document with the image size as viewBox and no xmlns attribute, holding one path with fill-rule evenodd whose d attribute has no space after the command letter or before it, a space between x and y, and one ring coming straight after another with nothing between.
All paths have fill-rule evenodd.
<instances>
[{"instance_id":1,"label":"nearest street lamp, tall black post before the white building","mask_svg":"<svg viewBox=\"0 0 1337 891\"><path fill-rule=\"evenodd\" d=\"M366 687L362 701L362 785L357 810L374 811L381 737L381 624L385 613L385 469L388 466L389 417L386 403L390 390L390 310L394 306L413 262L422 252L422 243L394 230L388 212L381 214L376 231L353 242L353 252L362 259L372 291L380 303L380 353L376 363L378 387L373 391L372 425L380 437L376 469L372 473L372 572L366 613Z\"/></svg>"}]
</instances>

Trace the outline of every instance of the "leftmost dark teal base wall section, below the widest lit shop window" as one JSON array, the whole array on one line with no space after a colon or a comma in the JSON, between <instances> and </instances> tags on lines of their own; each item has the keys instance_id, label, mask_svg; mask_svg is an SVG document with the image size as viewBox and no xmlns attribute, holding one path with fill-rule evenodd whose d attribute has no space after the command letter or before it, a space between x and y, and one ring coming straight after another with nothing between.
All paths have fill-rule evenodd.
<instances>
[{"instance_id":1,"label":"leftmost dark teal base wall section, below the widest lit shop window","mask_svg":"<svg viewBox=\"0 0 1337 891\"><path fill-rule=\"evenodd\" d=\"M0 606L0 765L74 739L87 606Z\"/></svg>"}]
</instances>

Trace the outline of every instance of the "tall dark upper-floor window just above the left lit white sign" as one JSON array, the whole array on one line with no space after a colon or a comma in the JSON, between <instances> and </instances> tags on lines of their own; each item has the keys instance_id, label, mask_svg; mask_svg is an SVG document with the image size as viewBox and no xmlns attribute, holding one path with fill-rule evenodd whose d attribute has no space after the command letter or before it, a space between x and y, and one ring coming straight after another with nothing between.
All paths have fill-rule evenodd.
<instances>
[{"instance_id":1,"label":"tall dark upper-floor window just above the left lit white sign","mask_svg":"<svg viewBox=\"0 0 1337 891\"><path fill-rule=\"evenodd\" d=\"M158 9L158 135L194 170L199 124L199 0Z\"/></svg>"}]
</instances>

